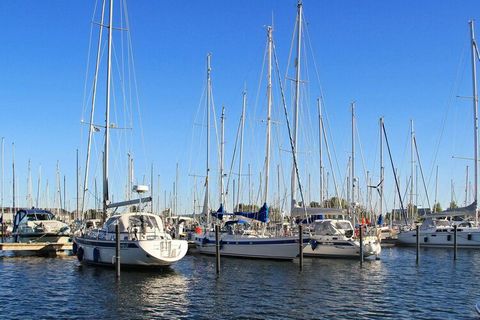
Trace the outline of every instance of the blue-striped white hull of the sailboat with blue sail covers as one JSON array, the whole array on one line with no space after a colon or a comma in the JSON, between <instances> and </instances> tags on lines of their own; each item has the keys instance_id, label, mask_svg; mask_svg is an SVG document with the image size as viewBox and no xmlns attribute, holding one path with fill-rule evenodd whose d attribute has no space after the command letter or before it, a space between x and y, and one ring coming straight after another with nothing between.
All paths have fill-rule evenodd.
<instances>
[{"instance_id":1,"label":"blue-striped white hull of the sailboat with blue sail covers","mask_svg":"<svg viewBox=\"0 0 480 320\"><path fill-rule=\"evenodd\" d=\"M207 240L204 240L204 239ZM305 245L307 239L304 240ZM215 254L215 237L197 236L197 250L202 254ZM299 254L298 237L245 237L222 235L220 255L241 258L293 260Z\"/></svg>"}]
</instances>

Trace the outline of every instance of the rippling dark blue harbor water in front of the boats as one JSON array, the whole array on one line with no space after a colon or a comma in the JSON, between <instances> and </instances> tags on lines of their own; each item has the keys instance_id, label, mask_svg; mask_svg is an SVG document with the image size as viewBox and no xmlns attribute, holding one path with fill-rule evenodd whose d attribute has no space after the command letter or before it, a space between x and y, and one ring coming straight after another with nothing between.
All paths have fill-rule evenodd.
<instances>
[{"instance_id":1,"label":"rippling dark blue harbor water in front of the boats","mask_svg":"<svg viewBox=\"0 0 480 320\"><path fill-rule=\"evenodd\" d=\"M297 262L186 256L161 271L75 257L0 257L2 319L478 319L480 251L383 249L381 260Z\"/></svg>"}]
</instances>

